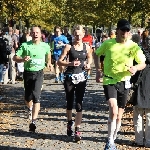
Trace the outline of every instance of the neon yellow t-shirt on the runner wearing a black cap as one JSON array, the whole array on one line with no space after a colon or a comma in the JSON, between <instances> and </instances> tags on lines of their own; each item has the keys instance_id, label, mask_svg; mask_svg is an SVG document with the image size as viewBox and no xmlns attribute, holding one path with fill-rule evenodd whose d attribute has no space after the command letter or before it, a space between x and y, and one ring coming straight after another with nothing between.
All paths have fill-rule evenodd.
<instances>
[{"instance_id":1,"label":"neon yellow t-shirt on the runner wearing a black cap","mask_svg":"<svg viewBox=\"0 0 150 150\"><path fill-rule=\"evenodd\" d=\"M145 55L140 47L129 40L126 44L117 43L116 39L106 40L97 50L96 55L104 55L104 76L103 84L115 84L125 81L131 76L127 66L133 66L133 60L138 64L145 62Z\"/></svg>"}]
</instances>

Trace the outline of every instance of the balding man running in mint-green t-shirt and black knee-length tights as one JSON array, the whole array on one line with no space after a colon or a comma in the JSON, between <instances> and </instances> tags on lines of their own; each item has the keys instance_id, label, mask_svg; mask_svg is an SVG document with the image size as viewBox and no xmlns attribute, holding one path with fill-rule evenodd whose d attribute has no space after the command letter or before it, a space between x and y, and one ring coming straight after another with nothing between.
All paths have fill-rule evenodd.
<instances>
[{"instance_id":1,"label":"balding man running in mint-green t-shirt and black knee-length tights","mask_svg":"<svg viewBox=\"0 0 150 150\"><path fill-rule=\"evenodd\" d=\"M25 103L32 117L29 131L35 132L35 122L40 110L45 61L48 68L51 68L52 65L50 46L45 42L41 42L40 28L33 27L31 35L32 41L23 43L17 50L13 60L17 63L24 62Z\"/></svg>"}]
</instances>

